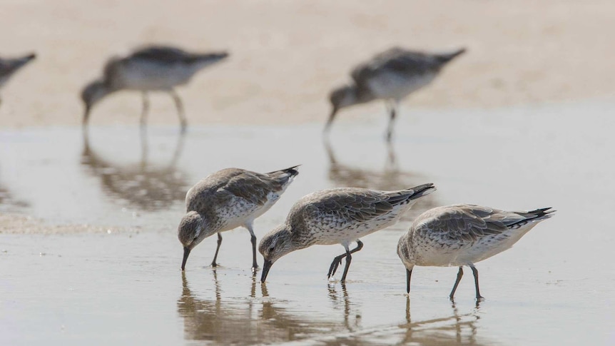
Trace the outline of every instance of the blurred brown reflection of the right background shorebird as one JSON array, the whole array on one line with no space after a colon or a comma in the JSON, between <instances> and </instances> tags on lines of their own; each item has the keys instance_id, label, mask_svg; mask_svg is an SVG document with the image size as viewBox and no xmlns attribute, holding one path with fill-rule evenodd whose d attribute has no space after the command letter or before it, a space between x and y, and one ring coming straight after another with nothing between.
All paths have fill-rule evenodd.
<instances>
[{"instance_id":1,"label":"blurred brown reflection of the right background shorebird","mask_svg":"<svg viewBox=\"0 0 615 346\"><path fill-rule=\"evenodd\" d=\"M325 140L325 151L329 158L329 180L335 187L353 186L357 188L373 188L376 190L400 190L412 186L432 183L432 179L418 173L400 170L397 164L395 150L387 143L387 160L382 170L360 168L358 166L340 163L329 141ZM376 157L376 156L372 156ZM368 163L370 164L370 163ZM370 166L374 166L371 165ZM420 198L404 215L402 220L413 220L421 213L439 205L435 194Z\"/></svg>"}]
</instances>

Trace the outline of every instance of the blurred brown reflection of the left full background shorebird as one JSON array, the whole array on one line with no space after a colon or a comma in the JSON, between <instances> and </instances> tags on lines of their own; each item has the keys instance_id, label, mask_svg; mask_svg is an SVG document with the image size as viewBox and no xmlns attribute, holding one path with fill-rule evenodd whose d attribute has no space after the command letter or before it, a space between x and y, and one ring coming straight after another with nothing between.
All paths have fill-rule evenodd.
<instances>
[{"instance_id":1,"label":"blurred brown reflection of the left full background shorebird","mask_svg":"<svg viewBox=\"0 0 615 346\"><path fill-rule=\"evenodd\" d=\"M141 131L141 161L120 164L96 153L91 146L88 131L83 131L81 164L88 173L101 179L103 190L131 207L156 211L183 202L189 183L185 173L178 171L177 162L183 149L184 135L177 138L176 148L168 165L148 163L148 141Z\"/></svg>"}]
</instances>

